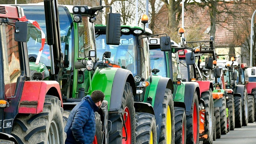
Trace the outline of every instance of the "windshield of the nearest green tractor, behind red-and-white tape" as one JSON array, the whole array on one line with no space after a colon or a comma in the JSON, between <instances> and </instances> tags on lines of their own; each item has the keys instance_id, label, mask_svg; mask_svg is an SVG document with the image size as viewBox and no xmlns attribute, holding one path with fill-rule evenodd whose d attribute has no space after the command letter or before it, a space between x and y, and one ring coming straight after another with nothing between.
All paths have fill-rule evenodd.
<instances>
[{"instance_id":1,"label":"windshield of the nearest green tractor, behind red-and-white tape","mask_svg":"<svg viewBox=\"0 0 256 144\"><path fill-rule=\"evenodd\" d=\"M45 24L45 14L43 6L21 6L24 9L25 16L28 20L36 21L44 34L46 35L46 24ZM60 25L60 37L61 37L61 51L66 53L68 51L69 56L69 68L71 68L71 48L73 47L73 21L67 8L59 7L59 25ZM35 62L38 52L42 45L42 34L41 31L36 28L32 23L28 23L28 33L27 33L27 48L28 57L30 62ZM66 48L65 48L66 45ZM65 51L66 50L66 51ZM45 44L43 47L42 55L40 57L41 63L46 66L51 66L50 61L50 50L49 45L47 45L47 35Z\"/></svg>"}]
</instances>

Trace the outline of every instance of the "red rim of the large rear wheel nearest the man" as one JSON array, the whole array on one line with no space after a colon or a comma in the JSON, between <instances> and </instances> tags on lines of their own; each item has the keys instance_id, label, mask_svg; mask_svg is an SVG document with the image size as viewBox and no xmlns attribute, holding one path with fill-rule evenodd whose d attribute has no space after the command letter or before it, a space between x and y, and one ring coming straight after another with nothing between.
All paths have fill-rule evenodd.
<instances>
[{"instance_id":1,"label":"red rim of the large rear wheel nearest the man","mask_svg":"<svg viewBox=\"0 0 256 144\"><path fill-rule=\"evenodd\" d=\"M131 117L130 117L130 111L128 107L125 107L124 109L124 121L125 121L125 127L126 127L126 131L127 131L127 140L125 141L125 138L123 138L122 143L123 144L131 144L131 135L132 135L132 131L131 131ZM123 127L122 130L122 136L126 137L125 134L125 129Z\"/></svg>"}]
</instances>

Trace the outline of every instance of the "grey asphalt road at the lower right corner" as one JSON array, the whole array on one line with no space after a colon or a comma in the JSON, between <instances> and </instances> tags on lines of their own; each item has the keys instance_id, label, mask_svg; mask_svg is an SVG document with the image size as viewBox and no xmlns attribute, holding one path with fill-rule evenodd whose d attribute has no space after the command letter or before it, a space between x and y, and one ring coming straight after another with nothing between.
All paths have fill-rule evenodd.
<instances>
[{"instance_id":1,"label":"grey asphalt road at the lower right corner","mask_svg":"<svg viewBox=\"0 0 256 144\"><path fill-rule=\"evenodd\" d=\"M221 138L213 141L213 144L256 144L256 123L235 128L226 135L221 135Z\"/></svg>"}]
</instances>

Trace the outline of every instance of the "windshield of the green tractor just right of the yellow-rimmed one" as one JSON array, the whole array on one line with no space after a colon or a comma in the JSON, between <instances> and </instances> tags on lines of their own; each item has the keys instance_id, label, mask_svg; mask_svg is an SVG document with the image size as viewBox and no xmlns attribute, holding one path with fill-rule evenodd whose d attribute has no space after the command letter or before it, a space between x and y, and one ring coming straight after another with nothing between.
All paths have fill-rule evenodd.
<instances>
[{"instance_id":1,"label":"windshield of the green tractor just right of the yellow-rimmed one","mask_svg":"<svg viewBox=\"0 0 256 144\"><path fill-rule=\"evenodd\" d=\"M150 66L160 70L157 75L167 77L165 55L160 49L150 50Z\"/></svg>"}]
</instances>

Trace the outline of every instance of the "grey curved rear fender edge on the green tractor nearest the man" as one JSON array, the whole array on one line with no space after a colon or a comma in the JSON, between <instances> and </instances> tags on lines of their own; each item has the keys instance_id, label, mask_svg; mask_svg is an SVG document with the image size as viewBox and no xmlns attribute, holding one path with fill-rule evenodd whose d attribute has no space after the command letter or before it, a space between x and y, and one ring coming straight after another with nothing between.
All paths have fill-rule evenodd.
<instances>
[{"instance_id":1,"label":"grey curved rear fender edge on the green tractor nearest the man","mask_svg":"<svg viewBox=\"0 0 256 144\"><path fill-rule=\"evenodd\" d=\"M131 71L118 68L113 79L109 111L115 111L121 108L125 82L130 83L133 96L136 95L135 82Z\"/></svg>"}]
</instances>

